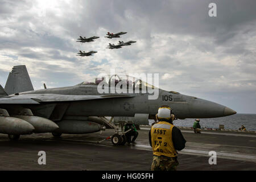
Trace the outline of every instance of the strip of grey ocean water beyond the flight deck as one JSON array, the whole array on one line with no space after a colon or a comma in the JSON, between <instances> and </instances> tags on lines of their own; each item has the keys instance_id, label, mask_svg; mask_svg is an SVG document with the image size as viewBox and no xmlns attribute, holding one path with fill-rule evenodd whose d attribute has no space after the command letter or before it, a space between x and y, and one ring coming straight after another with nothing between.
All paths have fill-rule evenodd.
<instances>
[{"instance_id":1,"label":"strip of grey ocean water beyond the flight deck","mask_svg":"<svg viewBox=\"0 0 256 182\"><path fill-rule=\"evenodd\" d=\"M195 119L177 119L174 121L175 126L192 127ZM154 122L150 121L151 123ZM224 129L238 130L241 125L246 127L246 130L256 131L256 114L234 114L221 118L200 119L202 128L218 129L219 125L224 125Z\"/></svg>"}]
</instances>

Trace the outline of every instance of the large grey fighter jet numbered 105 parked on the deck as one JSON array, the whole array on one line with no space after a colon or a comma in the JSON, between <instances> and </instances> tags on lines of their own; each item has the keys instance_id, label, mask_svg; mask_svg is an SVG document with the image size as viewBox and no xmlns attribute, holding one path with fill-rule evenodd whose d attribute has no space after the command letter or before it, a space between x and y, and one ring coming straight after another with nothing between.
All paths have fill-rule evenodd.
<instances>
[{"instance_id":1,"label":"large grey fighter jet numbered 105 parked on the deck","mask_svg":"<svg viewBox=\"0 0 256 182\"><path fill-rule=\"evenodd\" d=\"M105 92L99 92L102 89ZM120 93L118 89L127 92ZM154 95L152 90L155 93L158 90L154 100L148 99ZM148 125L148 119L155 119L162 105L170 106L179 119L236 114L223 105L117 74L74 86L34 90L26 66L18 65L9 73L5 89L0 86L0 133L13 140L31 133L51 132L59 137L94 133L104 130L102 125L105 125L115 129L112 143L122 145L126 142L122 119L131 118L129 121L137 125Z\"/></svg>"}]
</instances>

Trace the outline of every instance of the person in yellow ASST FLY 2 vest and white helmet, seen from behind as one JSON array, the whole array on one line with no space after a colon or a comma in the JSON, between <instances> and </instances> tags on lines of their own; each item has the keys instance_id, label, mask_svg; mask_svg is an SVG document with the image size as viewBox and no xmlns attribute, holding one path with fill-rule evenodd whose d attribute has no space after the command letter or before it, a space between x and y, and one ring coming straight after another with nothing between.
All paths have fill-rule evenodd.
<instances>
[{"instance_id":1,"label":"person in yellow ASST FLY 2 vest and white helmet, seen from behind","mask_svg":"<svg viewBox=\"0 0 256 182\"><path fill-rule=\"evenodd\" d=\"M169 106L161 106L156 115L158 123L148 133L150 146L153 150L152 171L176 171L177 150L185 148L186 140L181 131L172 123L175 115Z\"/></svg>"}]
</instances>

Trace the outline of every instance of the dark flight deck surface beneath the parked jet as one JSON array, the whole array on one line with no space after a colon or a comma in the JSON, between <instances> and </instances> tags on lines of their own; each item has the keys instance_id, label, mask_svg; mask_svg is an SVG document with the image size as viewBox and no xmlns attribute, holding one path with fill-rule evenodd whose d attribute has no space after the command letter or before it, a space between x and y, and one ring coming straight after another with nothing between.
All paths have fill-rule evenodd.
<instances>
[{"instance_id":1,"label":"dark flight deck surface beneath the parked jet","mask_svg":"<svg viewBox=\"0 0 256 182\"><path fill-rule=\"evenodd\" d=\"M97 143L113 135L112 129L60 138L24 135L16 142L0 134L0 170L150 170L148 128L138 131L136 143L125 146L113 146L110 140ZM178 170L256 170L256 134L181 131L187 143L179 152ZM46 152L46 165L38 164L39 151ZM217 165L209 165L209 151L217 152Z\"/></svg>"}]
</instances>

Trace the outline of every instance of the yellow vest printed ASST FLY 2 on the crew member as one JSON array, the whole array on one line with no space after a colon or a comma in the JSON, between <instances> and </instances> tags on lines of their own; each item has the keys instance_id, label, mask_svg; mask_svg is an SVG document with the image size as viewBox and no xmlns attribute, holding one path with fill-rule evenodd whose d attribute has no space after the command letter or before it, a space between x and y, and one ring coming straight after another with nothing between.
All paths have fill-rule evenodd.
<instances>
[{"instance_id":1,"label":"yellow vest printed ASST FLY 2 on the crew member","mask_svg":"<svg viewBox=\"0 0 256 182\"><path fill-rule=\"evenodd\" d=\"M151 128L151 143L154 155L164 155L168 157L176 157L177 151L172 142L171 123L160 121Z\"/></svg>"}]
</instances>

